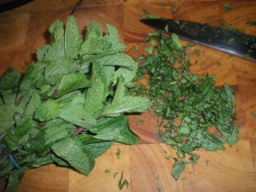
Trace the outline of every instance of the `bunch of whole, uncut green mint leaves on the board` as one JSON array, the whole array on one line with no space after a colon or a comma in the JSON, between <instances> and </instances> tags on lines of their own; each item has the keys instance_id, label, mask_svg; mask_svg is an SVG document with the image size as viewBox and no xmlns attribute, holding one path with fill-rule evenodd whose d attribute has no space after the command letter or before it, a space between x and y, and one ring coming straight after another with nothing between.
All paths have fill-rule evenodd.
<instances>
[{"instance_id":1,"label":"bunch of whole, uncut green mint leaves on the board","mask_svg":"<svg viewBox=\"0 0 256 192\"><path fill-rule=\"evenodd\" d=\"M18 191L29 169L55 163L88 175L114 142L134 144L126 113L150 108L131 96L137 62L126 55L114 26L95 20L85 38L73 16L49 26L50 44L37 50L26 73L9 68L0 79L0 181ZM10 160L13 157L18 166Z\"/></svg>"}]
</instances>

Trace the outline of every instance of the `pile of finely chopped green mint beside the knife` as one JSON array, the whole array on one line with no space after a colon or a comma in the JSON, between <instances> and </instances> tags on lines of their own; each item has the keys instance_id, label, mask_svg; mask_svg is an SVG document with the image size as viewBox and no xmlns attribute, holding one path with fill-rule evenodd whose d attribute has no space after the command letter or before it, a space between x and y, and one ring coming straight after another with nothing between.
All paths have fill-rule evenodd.
<instances>
[{"instance_id":1,"label":"pile of finely chopped green mint beside the knife","mask_svg":"<svg viewBox=\"0 0 256 192\"><path fill-rule=\"evenodd\" d=\"M132 91L154 102L154 113L162 119L157 126L159 140L177 150L172 166L177 179L186 164L199 160L197 150L216 151L238 140L234 90L228 84L216 87L213 75L191 73L188 55L199 56L198 49L182 46L176 34L151 32L146 42L147 56L137 58L142 61L137 80L148 74L148 83Z\"/></svg>"}]
</instances>

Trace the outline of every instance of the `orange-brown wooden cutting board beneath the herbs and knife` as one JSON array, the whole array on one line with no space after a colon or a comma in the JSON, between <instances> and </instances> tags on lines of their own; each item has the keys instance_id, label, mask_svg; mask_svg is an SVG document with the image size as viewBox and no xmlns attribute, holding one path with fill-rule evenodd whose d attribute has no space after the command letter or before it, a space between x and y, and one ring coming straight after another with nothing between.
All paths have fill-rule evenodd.
<instances>
[{"instance_id":1,"label":"orange-brown wooden cutting board beneath the herbs and knife","mask_svg":"<svg viewBox=\"0 0 256 192\"><path fill-rule=\"evenodd\" d=\"M232 8L230 12L224 9L227 2ZM76 3L36 0L0 13L0 73L8 66L24 71L25 63L34 59L36 49L49 42L50 23L56 19L66 22ZM177 11L172 13L174 5ZM143 38L152 31L139 21L143 9L166 18L213 25L225 20L228 25L256 35L256 26L247 24L247 20L256 20L256 1L252 0L84 0L74 15L81 32L90 20L116 26L120 41L127 44L126 52L136 57L143 51ZM104 31L107 32L106 27ZM136 44L140 45L139 51L134 49ZM198 164L187 166L181 179L175 181L171 176L173 160L165 157L175 156L176 151L158 143L157 119L152 112L131 115L131 129L141 137L139 143L132 146L115 143L96 159L96 167L89 177L54 165L30 170L20 183L20 192L114 192L119 191L121 172L130 183L123 191L256 191L256 63L199 45L196 48L201 49L201 56L192 67L193 72L215 74L218 85L227 83L236 88L236 122L240 126L240 140L236 145L227 146L225 151L199 151ZM105 172L106 169L110 172ZM113 177L115 172L118 174Z\"/></svg>"}]
</instances>

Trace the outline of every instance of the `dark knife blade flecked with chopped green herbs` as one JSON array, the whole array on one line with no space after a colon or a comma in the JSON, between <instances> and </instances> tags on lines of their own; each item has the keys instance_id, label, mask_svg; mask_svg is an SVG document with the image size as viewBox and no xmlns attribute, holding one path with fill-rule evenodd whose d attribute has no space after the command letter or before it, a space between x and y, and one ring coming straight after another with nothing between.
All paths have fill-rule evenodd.
<instances>
[{"instance_id":1,"label":"dark knife blade flecked with chopped green herbs","mask_svg":"<svg viewBox=\"0 0 256 192\"><path fill-rule=\"evenodd\" d=\"M142 19L157 30L176 33L180 38L256 62L256 37L237 30L188 20Z\"/></svg>"}]
</instances>

